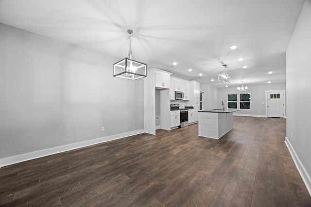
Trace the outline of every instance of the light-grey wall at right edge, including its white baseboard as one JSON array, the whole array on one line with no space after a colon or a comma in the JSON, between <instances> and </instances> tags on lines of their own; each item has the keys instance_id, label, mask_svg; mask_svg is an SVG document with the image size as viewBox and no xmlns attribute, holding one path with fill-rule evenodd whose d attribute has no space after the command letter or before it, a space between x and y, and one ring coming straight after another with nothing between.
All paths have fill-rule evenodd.
<instances>
[{"instance_id":1,"label":"light-grey wall at right edge, including its white baseboard","mask_svg":"<svg viewBox=\"0 0 311 207\"><path fill-rule=\"evenodd\" d=\"M311 194L311 0L306 0L286 50L287 145Z\"/></svg>"}]
</instances>

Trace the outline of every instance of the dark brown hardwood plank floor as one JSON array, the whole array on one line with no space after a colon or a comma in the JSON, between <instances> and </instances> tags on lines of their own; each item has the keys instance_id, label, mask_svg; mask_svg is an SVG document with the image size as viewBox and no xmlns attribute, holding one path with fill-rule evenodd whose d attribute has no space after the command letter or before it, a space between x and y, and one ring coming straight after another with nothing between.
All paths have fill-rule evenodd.
<instances>
[{"instance_id":1,"label":"dark brown hardwood plank floor","mask_svg":"<svg viewBox=\"0 0 311 207\"><path fill-rule=\"evenodd\" d=\"M284 143L286 120L234 117L140 134L0 169L1 206L311 207Z\"/></svg>"}]
</instances>

